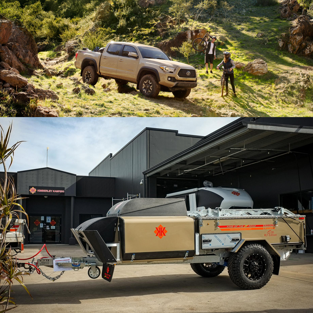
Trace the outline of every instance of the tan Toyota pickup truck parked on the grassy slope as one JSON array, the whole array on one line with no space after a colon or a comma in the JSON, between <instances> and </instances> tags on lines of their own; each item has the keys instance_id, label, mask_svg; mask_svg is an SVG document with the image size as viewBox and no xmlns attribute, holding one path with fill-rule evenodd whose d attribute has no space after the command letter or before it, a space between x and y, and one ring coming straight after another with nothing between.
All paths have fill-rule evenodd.
<instances>
[{"instance_id":1,"label":"tan Toyota pickup truck parked on the grassy slope","mask_svg":"<svg viewBox=\"0 0 313 313\"><path fill-rule=\"evenodd\" d=\"M74 65L81 69L84 83L95 85L99 77L113 78L117 85L131 82L151 98L160 91L186 98L197 86L194 67L172 61L161 49L144 44L110 42L98 52L83 48L77 51Z\"/></svg>"}]
</instances>

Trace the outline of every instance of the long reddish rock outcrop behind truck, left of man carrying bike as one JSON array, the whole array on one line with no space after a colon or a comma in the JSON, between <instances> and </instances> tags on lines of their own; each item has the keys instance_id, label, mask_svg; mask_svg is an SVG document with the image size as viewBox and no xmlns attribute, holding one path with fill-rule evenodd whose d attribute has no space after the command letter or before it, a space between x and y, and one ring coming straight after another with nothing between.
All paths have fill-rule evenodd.
<instances>
[{"instance_id":1,"label":"long reddish rock outcrop behind truck, left of man carrying bike","mask_svg":"<svg viewBox=\"0 0 313 313\"><path fill-rule=\"evenodd\" d=\"M197 37L203 37L206 34L206 29L194 29L187 30L186 32L178 33L175 38L171 40L164 40L157 44L156 46L162 49L165 53L170 54L172 56L176 56L177 51L172 51L172 47L180 47L183 42L189 41L192 42Z\"/></svg>"}]
</instances>

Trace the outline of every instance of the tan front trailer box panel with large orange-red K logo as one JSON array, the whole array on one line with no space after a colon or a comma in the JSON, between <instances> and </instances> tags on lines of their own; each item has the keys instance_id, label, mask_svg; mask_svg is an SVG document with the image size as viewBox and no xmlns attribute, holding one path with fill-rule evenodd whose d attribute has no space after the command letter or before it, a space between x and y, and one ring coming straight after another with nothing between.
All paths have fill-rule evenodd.
<instances>
[{"instance_id":1,"label":"tan front trailer box panel with large orange-red K logo","mask_svg":"<svg viewBox=\"0 0 313 313\"><path fill-rule=\"evenodd\" d=\"M192 251L194 219L188 216L123 216L125 253Z\"/></svg>"}]
</instances>

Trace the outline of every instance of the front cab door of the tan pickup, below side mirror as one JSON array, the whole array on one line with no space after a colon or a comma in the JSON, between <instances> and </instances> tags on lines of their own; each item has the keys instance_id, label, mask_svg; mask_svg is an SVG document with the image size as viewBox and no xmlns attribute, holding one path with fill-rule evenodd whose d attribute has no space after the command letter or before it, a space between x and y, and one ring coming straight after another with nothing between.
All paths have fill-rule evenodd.
<instances>
[{"instance_id":1,"label":"front cab door of the tan pickup, below side mirror","mask_svg":"<svg viewBox=\"0 0 313 313\"><path fill-rule=\"evenodd\" d=\"M130 52L136 53L137 57L129 56ZM123 47L122 55L118 58L116 76L125 80L136 81L138 64L139 54L136 48L126 44Z\"/></svg>"}]
</instances>

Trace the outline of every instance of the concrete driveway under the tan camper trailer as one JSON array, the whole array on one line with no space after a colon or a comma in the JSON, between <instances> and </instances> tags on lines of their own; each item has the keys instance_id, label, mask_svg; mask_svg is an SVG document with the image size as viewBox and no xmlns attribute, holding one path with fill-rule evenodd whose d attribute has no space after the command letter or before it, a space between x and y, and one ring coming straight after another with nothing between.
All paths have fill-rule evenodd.
<instances>
[{"instance_id":1,"label":"concrete driveway under the tan camper trailer","mask_svg":"<svg viewBox=\"0 0 313 313\"><path fill-rule=\"evenodd\" d=\"M39 245L25 246L18 257L32 256ZM78 246L48 245L56 256L81 256ZM47 256L44 252L37 257ZM37 259L36 257L36 259ZM56 276L48 267L46 274ZM259 290L242 290L227 269L215 278L195 274L189 264L116 266L110 283L90 279L87 269L67 271L55 282L33 273L24 278L33 299L18 285L12 312L233 312L312 313L313 254L292 254Z\"/></svg>"}]
</instances>

